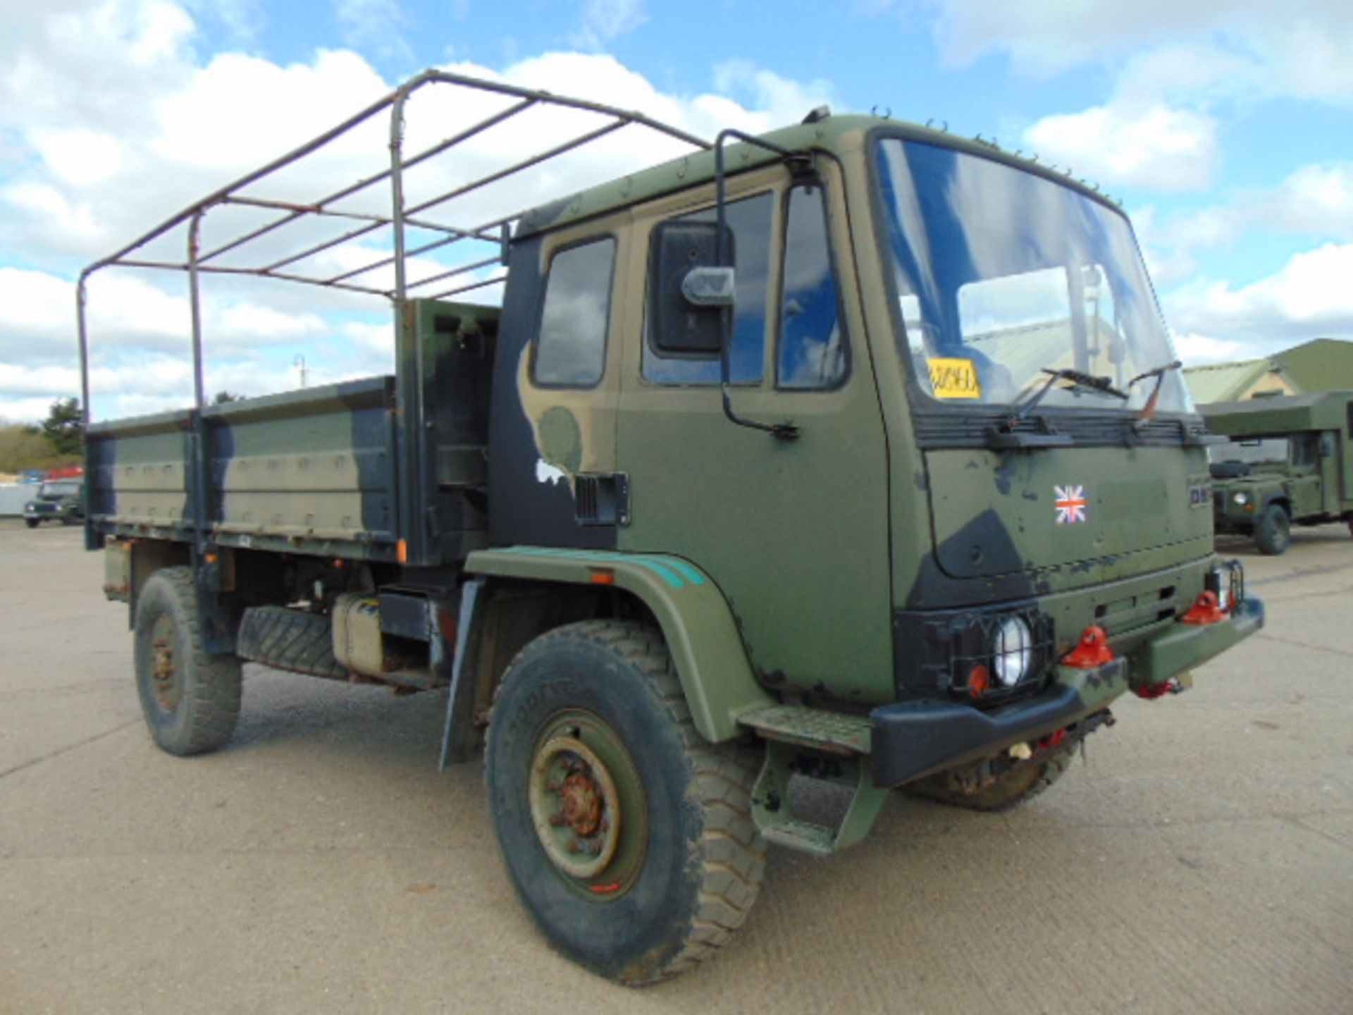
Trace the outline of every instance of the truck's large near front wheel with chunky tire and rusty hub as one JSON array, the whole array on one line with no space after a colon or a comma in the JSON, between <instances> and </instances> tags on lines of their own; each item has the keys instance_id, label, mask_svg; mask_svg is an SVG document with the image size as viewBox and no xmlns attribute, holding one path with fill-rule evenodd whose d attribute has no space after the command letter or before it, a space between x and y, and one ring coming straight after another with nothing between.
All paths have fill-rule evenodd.
<instances>
[{"instance_id":1,"label":"truck's large near front wheel with chunky tire and rusty hub","mask_svg":"<svg viewBox=\"0 0 1353 1015\"><path fill-rule=\"evenodd\" d=\"M695 732L658 631L584 621L530 641L495 696L484 762L507 873L571 960L655 983L747 919L766 862L754 752Z\"/></svg>"}]
</instances>

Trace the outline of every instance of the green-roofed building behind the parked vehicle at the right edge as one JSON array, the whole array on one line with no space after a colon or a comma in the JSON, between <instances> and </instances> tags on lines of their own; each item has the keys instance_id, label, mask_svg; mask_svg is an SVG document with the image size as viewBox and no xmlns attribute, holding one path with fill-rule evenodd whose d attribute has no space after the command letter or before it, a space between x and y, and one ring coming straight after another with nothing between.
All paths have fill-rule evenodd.
<instances>
[{"instance_id":1,"label":"green-roofed building behind the parked vehicle at the right edge","mask_svg":"<svg viewBox=\"0 0 1353 1015\"><path fill-rule=\"evenodd\" d=\"M1184 371L1197 405L1353 388L1353 341L1312 338L1284 352Z\"/></svg>"}]
</instances>

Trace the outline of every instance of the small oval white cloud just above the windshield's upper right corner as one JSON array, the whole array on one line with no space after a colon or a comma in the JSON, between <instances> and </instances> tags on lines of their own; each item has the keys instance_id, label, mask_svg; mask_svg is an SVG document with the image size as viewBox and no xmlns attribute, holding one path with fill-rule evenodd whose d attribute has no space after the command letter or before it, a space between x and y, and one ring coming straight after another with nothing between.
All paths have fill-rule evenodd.
<instances>
[{"instance_id":1,"label":"small oval white cloud just above the windshield's upper right corner","mask_svg":"<svg viewBox=\"0 0 1353 1015\"><path fill-rule=\"evenodd\" d=\"M1216 169L1216 131L1201 112L1109 104L1046 116L1024 131L1024 142L1043 161L1109 185L1197 191Z\"/></svg>"}]
</instances>

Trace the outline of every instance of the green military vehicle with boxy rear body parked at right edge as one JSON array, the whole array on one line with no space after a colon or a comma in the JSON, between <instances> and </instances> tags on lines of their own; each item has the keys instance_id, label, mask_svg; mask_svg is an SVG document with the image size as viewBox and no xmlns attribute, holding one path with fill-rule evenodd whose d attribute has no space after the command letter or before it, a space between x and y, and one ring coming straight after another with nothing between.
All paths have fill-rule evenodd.
<instances>
[{"instance_id":1,"label":"green military vehicle with boxy rear body parked at right edge","mask_svg":"<svg viewBox=\"0 0 1353 1015\"><path fill-rule=\"evenodd\" d=\"M1230 438L1212 448L1218 532L1281 554L1293 525L1345 521L1353 532L1353 391L1277 395L1199 406Z\"/></svg>"}]
</instances>

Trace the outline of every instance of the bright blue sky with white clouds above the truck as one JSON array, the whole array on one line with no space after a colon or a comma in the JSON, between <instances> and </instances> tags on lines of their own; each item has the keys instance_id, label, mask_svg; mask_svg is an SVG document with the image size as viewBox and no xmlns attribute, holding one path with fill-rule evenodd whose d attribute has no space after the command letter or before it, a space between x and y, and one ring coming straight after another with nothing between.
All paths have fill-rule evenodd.
<instances>
[{"instance_id":1,"label":"bright blue sky with white clouds above the truck","mask_svg":"<svg viewBox=\"0 0 1353 1015\"><path fill-rule=\"evenodd\" d=\"M83 267L426 68L705 138L823 103L947 125L1122 202L1187 364L1353 340L1349 53L1348 0L0 0L0 420L78 395ZM411 104L410 142L482 108ZM513 127L497 153L556 127ZM271 195L314 199L379 168L373 130ZM633 130L510 196L676 154ZM490 217L488 195L475 202L467 214ZM208 394L295 387L302 361L310 384L392 369L375 302L265 281L203 294ZM97 273L89 319L96 418L191 401L177 273Z\"/></svg>"}]
</instances>

